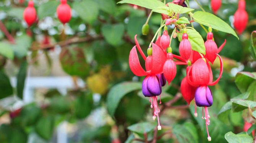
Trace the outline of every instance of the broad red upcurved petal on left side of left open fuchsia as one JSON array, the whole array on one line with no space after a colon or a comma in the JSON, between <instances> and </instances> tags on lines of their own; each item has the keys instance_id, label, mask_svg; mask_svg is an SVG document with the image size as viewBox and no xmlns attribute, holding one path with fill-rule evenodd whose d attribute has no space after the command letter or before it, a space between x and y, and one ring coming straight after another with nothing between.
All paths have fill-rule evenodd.
<instances>
[{"instance_id":1,"label":"broad red upcurved petal on left side of left open fuchsia","mask_svg":"<svg viewBox=\"0 0 256 143\"><path fill-rule=\"evenodd\" d=\"M146 76L147 72L141 67L141 64L139 63L139 57L138 53L136 50L136 46L134 46L129 55L129 66L131 71L136 75L136 76Z\"/></svg>"}]
</instances>

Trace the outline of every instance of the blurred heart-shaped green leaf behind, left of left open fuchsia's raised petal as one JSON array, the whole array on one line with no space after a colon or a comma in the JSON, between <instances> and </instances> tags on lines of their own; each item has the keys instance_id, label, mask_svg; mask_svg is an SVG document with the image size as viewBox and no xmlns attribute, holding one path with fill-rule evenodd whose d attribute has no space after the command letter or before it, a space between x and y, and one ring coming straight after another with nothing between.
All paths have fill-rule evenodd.
<instances>
[{"instance_id":1,"label":"blurred heart-shaped green leaf behind, left of left open fuchsia's raised petal","mask_svg":"<svg viewBox=\"0 0 256 143\"><path fill-rule=\"evenodd\" d=\"M123 24L105 24L102 26L101 31L105 40L110 45L118 46L123 42L122 37L125 32L125 26Z\"/></svg>"}]
</instances>

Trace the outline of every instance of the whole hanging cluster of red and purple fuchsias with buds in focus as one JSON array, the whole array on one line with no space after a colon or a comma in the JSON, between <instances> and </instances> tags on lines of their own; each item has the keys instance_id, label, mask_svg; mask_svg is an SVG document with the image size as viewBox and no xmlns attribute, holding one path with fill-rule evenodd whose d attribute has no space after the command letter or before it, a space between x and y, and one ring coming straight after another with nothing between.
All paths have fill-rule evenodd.
<instances>
[{"instance_id":1,"label":"whole hanging cluster of red and purple fuchsias with buds in focus","mask_svg":"<svg viewBox=\"0 0 256 143\"><path fill-rule=\"evenodd\" d=\"M173 14L173 16L170 17L166 17L162 14L162 18L166 19L164 32L162 36L158 36L155 43L150 43L147 49L147 56L145 56L141 50L138 40L136 39L137 35L135 35L136 46L131 49L129 55L130 69L136 76L146 76L142 83L142 93L144 96L150 97L151 108L154 109L153 119L155 120L157 118L157 129L161 130L159 122L160 109L157 104L157 98L159 96L161 104L160 96L162 86L166 84L166 80L170 85L170 82L175 78L177 72L176 65L187 65L186 77L184 77L181 82L181 94L188 104L194 99L196 106L203 107L204 114L202 118L206 120L207 129L207 125L210 124L210 116L207 107L211 106L213 103L212 93L208 86L217 84L222 76L223 63L218 53L222 50L226 41L218 48L213 40L212 29L209 27L207 40L204 43L206 54L203 55L192 50L191 43L188 40L189 35L187 34L186 25L177 24L178 14ZM180 56L172 53L170 42L172 37L175 38L177 34L172 34L170 37L167 31L167 25L175 26L173 33L183 31L182 40L179 45ZM176 28L180 29L180 31L176 30ZM145 61L146 71L139 62L136 49L138 49ZM217 57L220 59L220 74L219 77L213 81L210 63L213 64ZM196 111L194 115L197 116ZM207 134L208 140L211 141L208 129Z\"/></svg>"}]
</instances>

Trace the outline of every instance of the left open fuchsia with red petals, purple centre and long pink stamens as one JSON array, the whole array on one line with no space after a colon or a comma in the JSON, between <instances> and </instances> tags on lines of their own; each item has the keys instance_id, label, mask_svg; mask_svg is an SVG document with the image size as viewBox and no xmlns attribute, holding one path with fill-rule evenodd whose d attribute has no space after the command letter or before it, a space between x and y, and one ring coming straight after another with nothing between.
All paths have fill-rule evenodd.
<instances>
[{"instance_id":1,"label":"left open fuchsia with red petals, purple centre and long pink stamens","mask_svg":"<svg viewBox=\"0 0 256 143\"><path fill-rule=\"evenodd\" d=\"M142 93L144 96L150 97L149 101L151 102L151 108L154 107L153 119L156 119L157 117L157 129L161 130L158 115L160 110L157 104L157 96L162 93L162 85L164 85L164 82L166 82L164 77L161 77L166 56L164 51L159 46L157 46L155 43L152 43L152 48L148 48L148 56L146 57L141 50L141 47L139 46L136 36L137 35L134 37L136 46L131 49L129 55L129 66L131 71L136 76L146 76L142 83ZM136 47L146 62L146 71L141 67L141 64L139 63Z\"/></svg>"}]
</instances>

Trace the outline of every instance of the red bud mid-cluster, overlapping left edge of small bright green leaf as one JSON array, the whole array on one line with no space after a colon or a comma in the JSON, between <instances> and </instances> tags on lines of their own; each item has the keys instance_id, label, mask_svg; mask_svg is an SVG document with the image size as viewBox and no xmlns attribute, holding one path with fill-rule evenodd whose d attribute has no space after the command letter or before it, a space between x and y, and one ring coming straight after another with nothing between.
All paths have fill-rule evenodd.
<instances>
[{"instance_id":1,"label":"red bud mid-cluster, overlapping left edge of small bright green leaf","mask_svg":"<svg viewBox=\"0 0 256 143\"><path fill-rule=\"evenodd\" d=\"M188 40L188 34L186 33L182 35L182 41L180 42L179 52L180 52L180 56L183 59L185 59L185 61L188 61L192 53L192 47Z\"/></svg>"}]
</instances>

